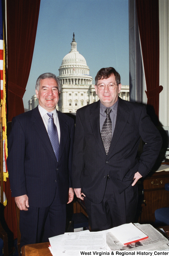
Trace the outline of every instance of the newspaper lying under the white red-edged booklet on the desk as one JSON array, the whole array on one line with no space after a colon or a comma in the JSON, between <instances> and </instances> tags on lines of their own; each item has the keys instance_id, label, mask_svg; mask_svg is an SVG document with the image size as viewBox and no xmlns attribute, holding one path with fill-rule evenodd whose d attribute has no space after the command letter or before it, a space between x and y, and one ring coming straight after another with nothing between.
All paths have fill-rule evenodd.
<instances>
[{"instance_id":1,"label":"newspaper lying under the white red-edged booklet on the desk","mask_svg":"<svg viewBox=\"0 0 169 256\"><path fill-rule=\"evenodd\" d=\"M106 230L106 242L107 250L149 250L149 251L160 251L160 250L169 250L168 239L163 236L157 229L153 228L150 224L135 224L137 228L143 231L147 236L147 239L142 241L131 243L127 245L121 244L117 238L111 233L111 229Z\"/></svg>"}]
</instances>

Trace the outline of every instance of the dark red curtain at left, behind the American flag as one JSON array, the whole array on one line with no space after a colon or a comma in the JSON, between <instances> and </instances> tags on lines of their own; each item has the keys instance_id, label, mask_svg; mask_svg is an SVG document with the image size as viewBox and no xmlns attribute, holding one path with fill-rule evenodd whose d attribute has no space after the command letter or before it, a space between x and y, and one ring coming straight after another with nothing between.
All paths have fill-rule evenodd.
<instances>
[{"instance_id":1,"label":"dark red curtain at left, behind the American flag","mask_svg":"<svg viewBox=\"0 0 169 256\"><path fill-rule=\"evenodd\" d=\"M24 112L22 98L31 69L39 8L40 0L6 1L8 121ZM4 217L15 239L17 237L15 201L11 197L8 178L4 182L4 190L8 200L4 208Z\"/></svg>"}]
</instances>

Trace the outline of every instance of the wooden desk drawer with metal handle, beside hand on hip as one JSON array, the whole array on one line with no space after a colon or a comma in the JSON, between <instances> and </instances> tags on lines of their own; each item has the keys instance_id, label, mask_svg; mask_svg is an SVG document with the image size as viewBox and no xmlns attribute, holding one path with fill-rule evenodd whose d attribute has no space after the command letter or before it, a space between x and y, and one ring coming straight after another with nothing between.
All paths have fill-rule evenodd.
<instances>
[{"instance_id":1,"label":"wooden desk drawer with metal handle, beside hand on hip","mask_svg":"<svg viewBox=\"0 0 169 256\"><path fill-rule=\"evenodd\" d=\"M143 181L143 187L145 189L158 189L164 188L165 183L169 182L169 177L150 178Z\"/></svg>"}]
</instances>

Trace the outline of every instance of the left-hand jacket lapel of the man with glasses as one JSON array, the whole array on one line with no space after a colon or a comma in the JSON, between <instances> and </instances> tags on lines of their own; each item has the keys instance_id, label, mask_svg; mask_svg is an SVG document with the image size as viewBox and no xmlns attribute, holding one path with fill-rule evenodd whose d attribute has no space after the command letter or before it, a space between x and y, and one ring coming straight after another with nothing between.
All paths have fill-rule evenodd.
<instances>
[{"instance_id":1,"label":"left-hand jacket lapel of the man with glasses","mask_svg":"<svg viewBox=\"0 0 169 256\"><path fill-rule=\"evenodd\" d=\"M103 151L104 154L106 154L103 141L100 135L100 121L99 121L100 118L98 117L100 117L100 100L98 100L95 104L92 105L92 108L90 109L90 114L89 114L89 121L92 127L93 135L100 149Z\"/></svg>"}]
</instances>

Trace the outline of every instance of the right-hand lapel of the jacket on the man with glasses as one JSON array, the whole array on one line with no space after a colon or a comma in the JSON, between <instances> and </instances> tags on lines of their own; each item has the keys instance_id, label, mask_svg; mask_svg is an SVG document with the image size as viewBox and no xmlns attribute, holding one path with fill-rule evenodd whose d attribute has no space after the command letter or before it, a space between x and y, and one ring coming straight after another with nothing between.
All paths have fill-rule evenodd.
<instances>
[{"instance_id":1,"label":"right-hand lapel of the jacket on the man with glasses","mask_svg":"<svg viewBox=\"0 0 169 256\"><path fill-rule=\"evenodd\" d=\"M113 137L112 137L112 141L110 144L107 157L111 155L116 143L118 142L121 136L121 133L123 132L126 126L128 119L129 119L129 112L127 111L125 101L119 98L118 107L117 107L116 124L115 124L114 133L113 133Z\"/></svg>"}]
</instances>

